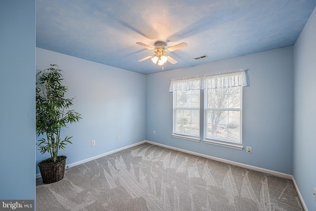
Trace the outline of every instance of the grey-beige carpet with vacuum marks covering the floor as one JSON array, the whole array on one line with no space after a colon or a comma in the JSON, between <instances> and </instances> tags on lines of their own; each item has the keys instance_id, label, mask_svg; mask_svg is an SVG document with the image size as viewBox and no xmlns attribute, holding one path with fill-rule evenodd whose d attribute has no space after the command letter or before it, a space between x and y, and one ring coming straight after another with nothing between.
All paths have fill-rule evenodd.
<instances>
[{"instance_id":1,"label":"grey-beige carpet with vacuum marks covering the floor","mask_svg":"<svg viewBox=\"0 0 316 211\"><path fill-rule=\"evenodd\" d=\"M37 211L303 211L291 180L144 143L37 180Z\"/></svg>"}]
</instances>

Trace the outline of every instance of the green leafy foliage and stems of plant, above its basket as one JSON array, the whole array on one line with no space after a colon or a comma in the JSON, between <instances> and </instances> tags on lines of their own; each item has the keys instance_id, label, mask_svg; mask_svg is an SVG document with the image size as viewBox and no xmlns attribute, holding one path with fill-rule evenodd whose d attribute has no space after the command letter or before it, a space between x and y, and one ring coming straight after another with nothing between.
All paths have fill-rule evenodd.
<instances>
[{"instance_id":1,"label":"green leafy foliage and stems of plant, above its basket","mask_svg":"<svg viewBox=\"0 0 316 211\"><path fill-rule=\"evenodd\" d=\"M58 149L65 149L67 143L72 144L72 136L61 139L61 129L81 119L78 112L68 110L74 97L65 98L68 87L63 85L63 71L58 68L50 65L50 68L37 73L36 83L36 129L39 136L46 135L38 140L38 146L40 152L48 152L53 161L56 161Z\"/></svg>"}]
</instances>

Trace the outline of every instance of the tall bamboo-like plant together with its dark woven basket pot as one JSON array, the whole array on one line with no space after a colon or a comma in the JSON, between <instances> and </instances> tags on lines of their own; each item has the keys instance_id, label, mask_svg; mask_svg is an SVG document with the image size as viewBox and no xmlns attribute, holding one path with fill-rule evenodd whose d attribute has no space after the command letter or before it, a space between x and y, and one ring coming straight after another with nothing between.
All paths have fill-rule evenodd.
<instances>
[{"instance_id":1,"label":"tall bamboo-like plant together with its dark woven basket pot","mask_svg":"<svg viewBox=\"0 0 316 211\"><path fill-rule=\"evenodd\" d=\"M56 69L57 68L57 69ZM50 158L41 161L38 166L43 183L53 183L64 177L66 156L58 156L60 149L71 143L71 137L61 138L62 128L69 123L78 122L80 114L70 110L73 99L65 97L68 87L62 84L62 70L57 65L37 74L36 87L36 131L40 137L38 146L43 154Z\"/></svg>"}]
</instances>

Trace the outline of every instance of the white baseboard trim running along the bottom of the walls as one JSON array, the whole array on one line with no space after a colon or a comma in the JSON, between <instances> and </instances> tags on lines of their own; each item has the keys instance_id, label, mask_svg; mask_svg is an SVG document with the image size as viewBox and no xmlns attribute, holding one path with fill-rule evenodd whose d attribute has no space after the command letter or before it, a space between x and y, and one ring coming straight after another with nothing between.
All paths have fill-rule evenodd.
<instances>
[{"instance_id":1,"label":"white baseboard trim running along the bottom of the walls","mask_svg":"<svg viewBox=\"0 0 316 211\"><path fill-rule=\"evenodd\" d=\"M122 148L119 148L119 149L116 149L116 150L113 150L113 151L110 151L110 152L106 152L106 153L103 153L101 155L97 155L97 156L94 156L94 157L91 157L91 158L88 158L88 159L84 159L82 161L78 161L78 162L75 162L75 163L72 163L72 164L67 164L66 165L66 169L78 166L80 164L84 164L86 162L89 162L89 161L92 161L92 160L104 157L106 155L110 155L110 154L116 153L116 152L119 152L121 150L128 149L128 148L131 148L131 147L143 144L143 143L154 144L154 145L161 146L161 147L164 147L164 148L173 149L173 150L177 150L177 151L180 151L180 152L188 153L188 154L191 154L191 155L196 155L196 156L199 156L199 157L203 157L203 158L219 161L219 162L222 162L222 163L235 165L235 166L242 167L242 168L245 168L245 169L256 170L256 171L260 171L260 172L263 172L263 173L268 173L268 174L271 174L271 175L274 175L274 176L278 176L278 177L282 177L282 178L286 178L286 179L291 179L293 181L293 184L295 186L297 194L298 194L298 196L299 196L299 198L300 198L300 200L302 202L304 210L308 211L307 207L306 207L306 204L305 204L305 202L303 200L303 197L301 195L301 192L298 189L298 186L297 186L297 184L295 182L295 179L290 174L281 173L281 172L274 171L274 170L269 170L269 169L263 169L263 168L259 168L259 167L254 167L254 166L250 166L250 165L247 165L247 164L242 164L242 163L238 163L238 162L235 162L235 161L230 161L230 160L225 160L225 159L222 159L222 158L217 158L217 157L213 157L213 156L209 156L209 155L204 155L204 154L201 154L201 153L192 152L192 151L189 151L189 150L184 150L184 149L180 149L180 148L177 148L177 147L172 147L172 146L168 146L168 145L164 145L164 144L159 144L159 143L156 143L156 142L153 142L153 141L148 141L148 140L140 141L140 142L137 142L135 144L131 144L131 145L128 145L128 146L125 146L125 147L122 147ZM40 177L41 177L40 173L38 173L36 175L36 178L40 178Z\"/></svg>"}]
</instances>

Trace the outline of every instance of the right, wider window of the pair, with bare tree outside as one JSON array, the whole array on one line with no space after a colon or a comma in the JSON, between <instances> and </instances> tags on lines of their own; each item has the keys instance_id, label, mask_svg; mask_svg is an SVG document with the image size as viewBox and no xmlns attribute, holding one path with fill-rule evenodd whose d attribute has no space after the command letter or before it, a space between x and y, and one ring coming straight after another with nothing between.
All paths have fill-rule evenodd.
<instances>
[{"instance_id":1,"label":"right, wider window of the pair, with bare tree outside","mask_svg":"<svg viewBox=\"0 0 316 211\"><path fill-rule=\"evenodd\" d=\"M204 142L242 147L241 99L241 86L204 90Z\"/></svg>"}]
</instances>

